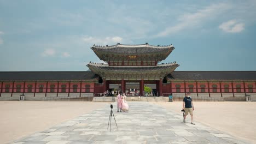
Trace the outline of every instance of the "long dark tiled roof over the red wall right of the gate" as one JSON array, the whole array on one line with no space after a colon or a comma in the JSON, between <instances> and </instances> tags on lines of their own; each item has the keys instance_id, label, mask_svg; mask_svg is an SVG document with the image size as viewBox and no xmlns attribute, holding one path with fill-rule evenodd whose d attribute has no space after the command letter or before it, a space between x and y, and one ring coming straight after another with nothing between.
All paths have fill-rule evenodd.
<instances>
[{"instance_id":1,"label":"long dark tiled roof over the red wall right of the gate","mask_svg":"<svg viewBox=\"0 0 256 144\"><path fill-rule=\"evenodd\" d=\"M256 71L173 71L169 80L256 80Z\"/></svg>"}]
</instances>

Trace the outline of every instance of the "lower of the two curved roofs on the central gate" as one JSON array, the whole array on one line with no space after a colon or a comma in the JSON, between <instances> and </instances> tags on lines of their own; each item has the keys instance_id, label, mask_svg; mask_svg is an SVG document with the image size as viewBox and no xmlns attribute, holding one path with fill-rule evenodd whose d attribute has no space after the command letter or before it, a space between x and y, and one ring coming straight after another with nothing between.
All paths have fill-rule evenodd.
<instances>
[{"instance_id":1,"label":"lower of the two curved roofs on the central gate","mask_svg":"<svg viewBox=\"0 0 256 144\"><path fill-rule=\"evenodd\" d=\"M159 80L172 73L179 64L168 63L156 66L109 66L108 64L89 63L89 69L106 80Z\"/></svg>"}]
</instances>

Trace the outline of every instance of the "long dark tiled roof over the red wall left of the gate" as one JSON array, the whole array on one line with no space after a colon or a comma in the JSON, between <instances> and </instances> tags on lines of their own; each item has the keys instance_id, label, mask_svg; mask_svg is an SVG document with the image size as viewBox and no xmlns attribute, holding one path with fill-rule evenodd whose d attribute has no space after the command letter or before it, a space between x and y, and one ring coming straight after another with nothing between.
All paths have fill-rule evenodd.
<instances>
[{"instance_id":1,"label":"long dark tiled roof over the red wall left of the gate","mask_svg":"<svg viewBox=\"0 0 256 144\"><path fill-rule=\"evenodd\" d=\"M97 78L92 71L0 71L0 81L94 81Z\"/></svg>"}]
</instances>

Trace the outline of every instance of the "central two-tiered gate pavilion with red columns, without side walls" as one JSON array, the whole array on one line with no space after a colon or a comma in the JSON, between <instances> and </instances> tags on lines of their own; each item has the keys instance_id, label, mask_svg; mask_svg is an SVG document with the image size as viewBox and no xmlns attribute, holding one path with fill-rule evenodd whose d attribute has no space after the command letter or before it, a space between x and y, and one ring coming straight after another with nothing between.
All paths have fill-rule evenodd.
<instances>
[{"instance_id":1,"label":"central two-tiered gate pavilion with red columns, without side walls","mask_svg":"<svg viewBox=\"0 0 256 144\"><path fill-rule=\"evenodd\" d=\"M175 49L173 45L154 46L148 43L122 45L118 43L112 46L93 45L91 49L107 63L90 62L87 65L102 79L102 85L96 85L98 87L95 93L110 92L115 89L125 92L126 95L161 96L164 77L179 66L176 62L159 63ZM146 94L144 86L152 88L152 92Z\"/></svg>"}]
</instances>

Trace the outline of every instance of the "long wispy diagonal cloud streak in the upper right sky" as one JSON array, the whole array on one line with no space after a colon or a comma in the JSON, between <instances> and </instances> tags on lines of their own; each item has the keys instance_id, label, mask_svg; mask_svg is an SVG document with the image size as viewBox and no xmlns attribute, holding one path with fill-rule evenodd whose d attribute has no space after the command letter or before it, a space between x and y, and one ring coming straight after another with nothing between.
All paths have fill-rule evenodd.
<instances>
[{"instance_id":1,"label":"long wispy diagonal cloud streak in the upper right sky","mask_svg":"<svg viewBox=\"0 0 256 144\"><path fill-rule=\"evenodd\" d=\"M229 9L227 4L212 4L204 9L199 9L195 13L187 13L178 18L178 23L174 26L167 27L164 31L155 35L155 37L165 37L173 33L177 33L186 28L194 28L201 25L207 19L213 19L215 16Z\"/></svg>"}]
</instances>

